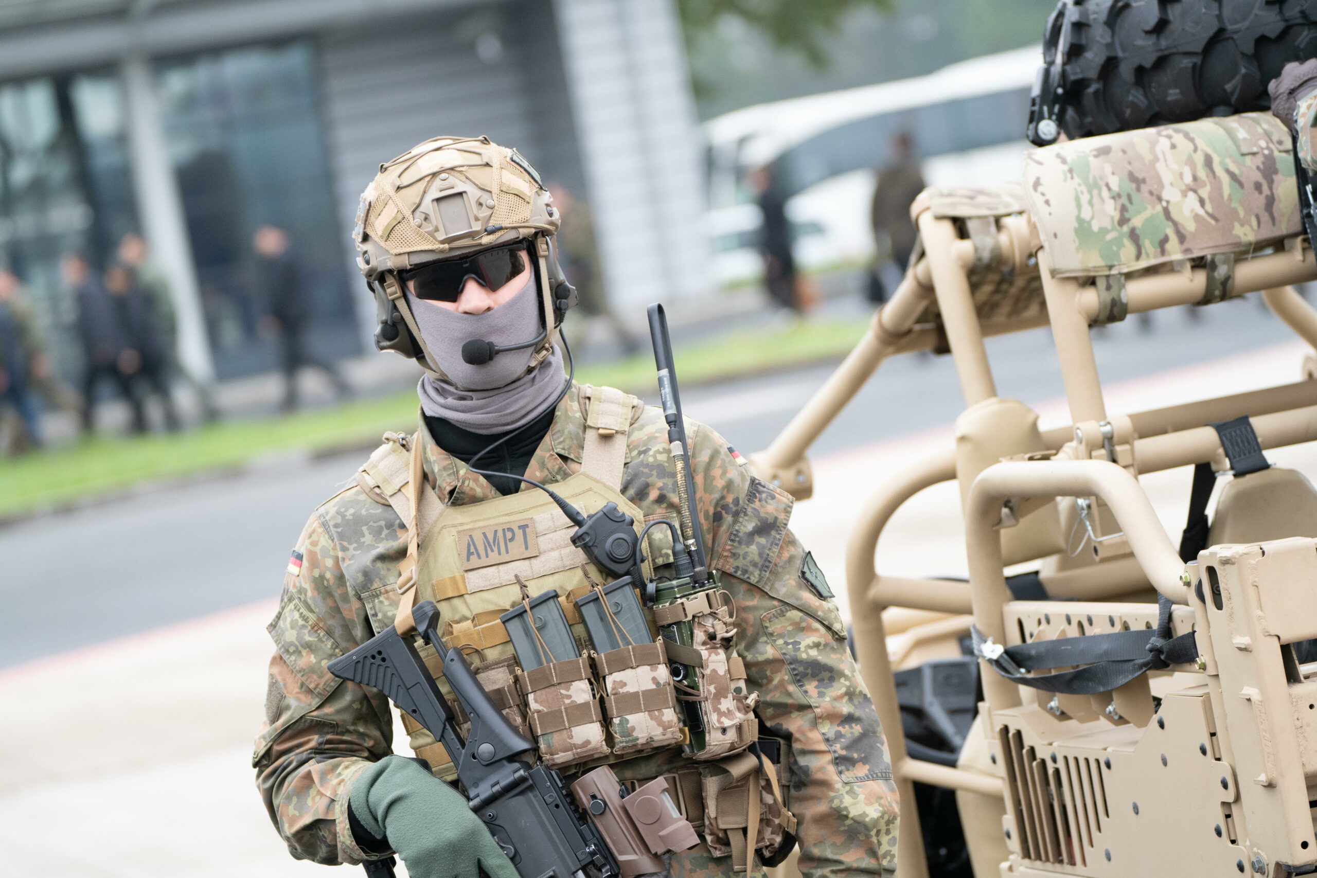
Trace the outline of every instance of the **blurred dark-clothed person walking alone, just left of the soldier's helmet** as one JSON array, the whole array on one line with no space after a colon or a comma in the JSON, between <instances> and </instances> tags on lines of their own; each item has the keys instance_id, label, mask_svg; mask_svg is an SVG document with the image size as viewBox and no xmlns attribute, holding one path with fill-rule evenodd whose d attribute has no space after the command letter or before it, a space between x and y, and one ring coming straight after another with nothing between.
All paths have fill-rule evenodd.
<instances>
[{"instance_id":1,"label":"blurred dark-clothed person walking alone, just left of the soldier's helmet","mask_svg":"<svg viewBox=\"0 0 1317 878\"><path fill-rule=\"evenodd\" d=\"M329 375L340 399L350 395L348 382L328 359L307 351L311 307L302 283L302 271L288 251L288 234L274 225L262 225L252 238L258 257L257 294L269 308L269 320L279 333L283 349L283 411L298 407L298 370L313 366Z\"/></svg>"}]
</instances>

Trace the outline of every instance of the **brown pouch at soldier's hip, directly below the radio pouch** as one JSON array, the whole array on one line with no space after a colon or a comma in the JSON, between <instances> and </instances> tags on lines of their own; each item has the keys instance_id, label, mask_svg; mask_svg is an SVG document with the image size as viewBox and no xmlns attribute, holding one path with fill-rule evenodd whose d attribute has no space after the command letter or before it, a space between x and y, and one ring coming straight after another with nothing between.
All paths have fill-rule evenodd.
<instances>
[{"instance_id":1,"label":"brown pouch at soldier's hip, directly below the radio pouch","mask_svg":"<svg viewBox=\"0 0 1317 878\"><path fill-rule=\"evenodd\" d=\"M709 853L730 856L735 871L748 871L756 854L765 866L782 862L795 845L795 816L780 790L777 767L756 753L701 766Z\"/></svg>"}]
</instances>

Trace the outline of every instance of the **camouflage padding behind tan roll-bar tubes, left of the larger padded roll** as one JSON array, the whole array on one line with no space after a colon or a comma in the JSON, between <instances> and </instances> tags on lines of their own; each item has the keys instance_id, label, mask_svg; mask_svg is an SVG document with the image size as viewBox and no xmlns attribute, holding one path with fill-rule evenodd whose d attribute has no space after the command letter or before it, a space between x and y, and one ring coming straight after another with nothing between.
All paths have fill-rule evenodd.
<instances>
[{"instance_id":1,"label":"camouflage padding behind tan roll-bar tubes, left of the larger padded roll","mask_svg":"<svg viewBox=\"0 0 1317 878\"><path fill-rule=\"evenodd\" d=\"M1043 287L1036 271L1008 271L1000 266L996 253L997 220L1026 211L1025 190L1019 183L993 186L934 186L919 194L910 205L911 219L931 211L938 219L960 221L964 233L975 242L975 263L967 270L975 311L981 325L993 323L1021 323L1047 312ZM923 242L915 245L910 258L914 265L923 253ZM915 328L942 328L942 312L936 300L915 320Z\"/></svg>"}]
</instances>

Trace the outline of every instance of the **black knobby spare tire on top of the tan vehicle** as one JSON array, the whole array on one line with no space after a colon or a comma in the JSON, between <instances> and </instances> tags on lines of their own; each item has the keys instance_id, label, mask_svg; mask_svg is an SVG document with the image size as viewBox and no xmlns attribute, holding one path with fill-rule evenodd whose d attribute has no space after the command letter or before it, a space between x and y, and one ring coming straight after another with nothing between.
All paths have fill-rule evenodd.
<instances>
[{"instance_id":1,"label":"black knobby spare tire on top of the tan vehicle","mask_svg":"<svg viewBox=\"0 0 1317 878\"><path fill-rule=\"evenodd\" d=\"M1317 57L1317 0L1060 0L1029 140L1267 109L1267 83Z\"/></svg>"}]
</instances>

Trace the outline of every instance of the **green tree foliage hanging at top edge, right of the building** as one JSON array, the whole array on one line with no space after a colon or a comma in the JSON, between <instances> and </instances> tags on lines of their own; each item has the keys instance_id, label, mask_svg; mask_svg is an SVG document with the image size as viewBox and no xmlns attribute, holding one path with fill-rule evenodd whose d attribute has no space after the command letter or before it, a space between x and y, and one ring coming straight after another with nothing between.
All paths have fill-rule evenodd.
<instances>
[{"instance_id":1,"label":"green tree foliage hanging at top edge, right of the building","mask_svg":"<svg viewBox=\"0 0 1317 878\"><path fill-rule=\"evenodd\" d=\"M768 37L774 46L794 53L822 70L828 63L824 41L842 20L860 8L890 11L896 0L677 0L686 45L735 17Z\"/></svg>"}]
</instances>

